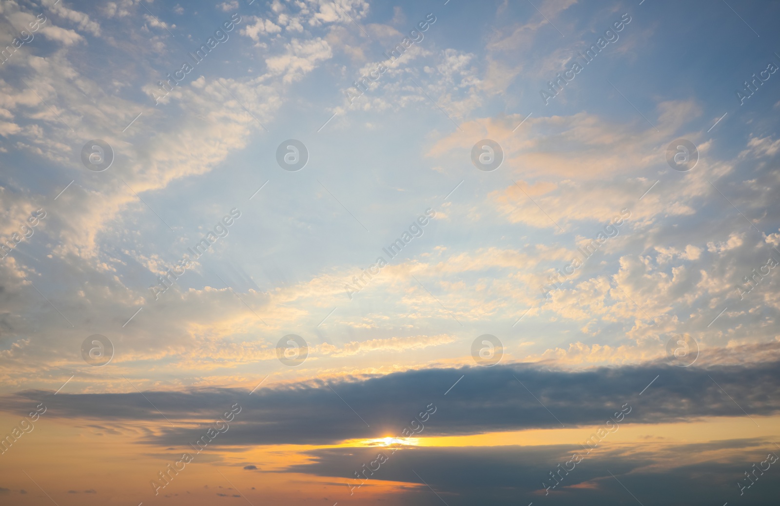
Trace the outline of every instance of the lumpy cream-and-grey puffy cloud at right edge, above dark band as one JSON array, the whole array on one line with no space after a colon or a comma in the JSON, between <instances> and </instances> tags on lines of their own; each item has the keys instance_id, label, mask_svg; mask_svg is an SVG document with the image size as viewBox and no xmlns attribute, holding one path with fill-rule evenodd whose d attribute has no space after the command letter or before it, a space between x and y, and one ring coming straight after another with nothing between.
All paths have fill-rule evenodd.
<instances>
[{"instance_id":1,"label":"lumpy cream-and-grey puffy cloud at right edge, above dark band","mask_svg":"<svg viewBox=\"0 0 780 506\"><path fill-rule=\"evenodd\" d=\"M780 253L755 238L743 244L739 236L727 236L724 243L732 246L726 249L704 241L696 246L690 244L690 237L670 235L657 237L667 246L656 243L640 255L619 257L614 274L588 273L564 283L551 292L544 310L592 322L588 327L620 323L627 337L636 340L683 333L708 345L776 338L771 322L780 317L775 295L780 281L764 266L770 258L780 260ZM632 242L628 239L623 245L630 249ZM750 288L746 279L762 267L764 274ZM710 327L725 307L729 311Z\"/></svg>"}]
</instances>

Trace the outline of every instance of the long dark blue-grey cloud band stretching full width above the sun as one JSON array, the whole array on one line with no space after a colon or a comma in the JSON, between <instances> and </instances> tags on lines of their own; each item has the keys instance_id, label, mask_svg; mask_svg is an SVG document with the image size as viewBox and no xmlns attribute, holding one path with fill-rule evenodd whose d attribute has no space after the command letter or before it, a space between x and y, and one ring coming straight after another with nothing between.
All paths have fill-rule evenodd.
<instances>
[{"instance_id":1,"label":"long dark blue-grey cloud band stretching full width above the sun","mask_svg":"<svg viewBox=\"0 0 780 506\"><path fill-rule=\"evenodd\" d=\"M461 376L463 380L445 395ZM654 380L655 377L658 379ZM431 403L436 412L424 423L424 436L551 428L561 424L601 425L625 403L631 407L626 423L745 416L743 409L751 416L762 416L780 409L778 380L780 363L776 362L707 369L654 364L579 372L518 364L411 370L332 383L330 387L314 382L263 388L252 395L238 388L147 391L146 398L138 392L61 392L54 396L51 391L25 391L0 398L0 406L23 412L31 402L44 402L48 419L95 419L101 427L111 422L154 420L160 427L155 432L147 431L144 442L189 448L215 424L198 429L174 428L150 401L174 424L176 420L193 419L216 422L237 403L241 412L229 423L229 430L211 443L224 448L249 444L332 444L350 438L400 435L402 428ZM648 384L651 386L647 387Z\"/></svg>"}]
</instances>

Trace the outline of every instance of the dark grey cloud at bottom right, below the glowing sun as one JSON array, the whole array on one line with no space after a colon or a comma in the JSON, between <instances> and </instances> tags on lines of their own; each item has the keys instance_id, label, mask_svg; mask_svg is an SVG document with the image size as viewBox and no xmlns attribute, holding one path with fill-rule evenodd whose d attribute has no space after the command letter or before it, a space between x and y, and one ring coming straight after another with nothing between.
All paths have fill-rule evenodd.
<instances>
[{"instance_id":1,"label":"dark grey cloud at bottom right, below the glowing sun","mask_svg":"<svg viewBox=\"0 0 780 506\"><path fill-rule=\"evenodd\" d=\"M642 504L711 506L726 501L736 503L740 498L737 480L745 480L743 472L752 469L753 462L764 460L771 448L771 441L760 438L660 447L627 447L606 441L597 454L587 455L570 472L561 472L560 484L550 489L550 494L545 494L542 482L555 484L549 473L557 471L558 463L568 461L573 453L581 455L583 448L579 445L419 447L402 448L394 454L389 448L328 448L307 451L314 462L293 465L284 472L340 476L345 499L359 500L366 488L381 480L419 484L407 489L402 504L436 504L438 500L431 489L449 506L530 502L537 506L637 504L627 488ZM690 462L701 451L723 449L739 450L739 456L728 463L711 457L695 464L674 464ZM363 464L376 462L379 453L387 457L385 463L373 475L364 471ZM376 469L377 465L372 467ZM743 499L750 501L746 504L776 504L780 469L770 474L771 469L774 468L761 476L755 486L745 490ZM368 479L363 478L362 487L351 488L361 483L356 472L363 472ZM334 501L339 501L339 497Z\"/></svg>"}]
</instances>

